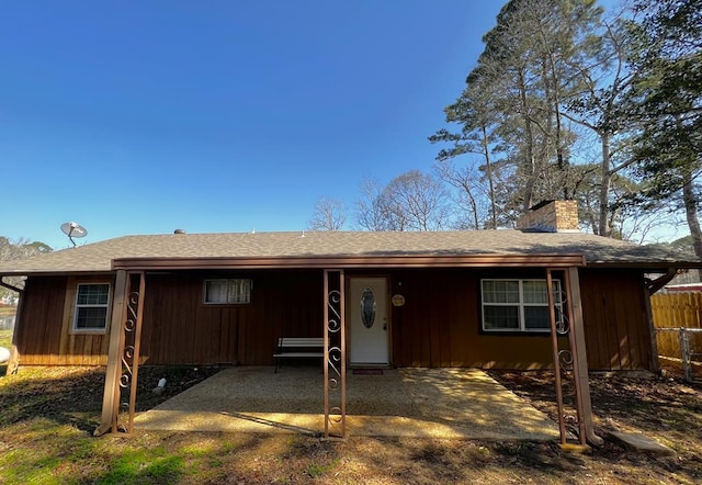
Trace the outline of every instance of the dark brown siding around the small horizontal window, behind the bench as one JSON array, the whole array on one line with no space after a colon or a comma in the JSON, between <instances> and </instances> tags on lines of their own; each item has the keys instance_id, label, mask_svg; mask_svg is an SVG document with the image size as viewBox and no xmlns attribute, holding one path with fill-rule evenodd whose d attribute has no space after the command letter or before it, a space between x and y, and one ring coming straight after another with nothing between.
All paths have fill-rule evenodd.
<instances>
[{"instance_id":1,"label":"dark brown siding around the small horizontal window, behind the bench","mask_svg":"<svg viewBox=\"0 0 702 485\"><path fill-rule=\"evenodd\" d=\"M259 271L148 275L141 361L271 365L279 337L322 336L322 273ZM205 279L250 278L248 305L203 303Z\"/></svg>"}]
</instances>

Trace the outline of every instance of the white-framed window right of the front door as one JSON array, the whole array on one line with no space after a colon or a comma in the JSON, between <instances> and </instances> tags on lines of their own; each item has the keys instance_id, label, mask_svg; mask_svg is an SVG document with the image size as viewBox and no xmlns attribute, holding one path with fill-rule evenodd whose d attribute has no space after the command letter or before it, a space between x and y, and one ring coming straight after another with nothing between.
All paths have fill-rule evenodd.
<instances>
[{"instance_id":1,"label":"white-framed window right of the front door","mask_svg":"<svg viewBox=\"0 0 702 485\"><path fill-rule=\"evenodd\" d=\"M546 280L480 280L483 330L551 331ZM561 281L553 280L556 322L563 317Z\"/></svg>"}]
</instances>

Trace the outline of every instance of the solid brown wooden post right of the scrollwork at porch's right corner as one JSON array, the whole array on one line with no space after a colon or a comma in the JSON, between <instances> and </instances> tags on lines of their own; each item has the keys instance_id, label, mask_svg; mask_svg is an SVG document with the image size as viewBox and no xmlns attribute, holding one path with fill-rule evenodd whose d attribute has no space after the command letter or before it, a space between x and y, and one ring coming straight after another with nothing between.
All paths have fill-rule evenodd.
<instances>
[{"instance_id":1,"label":"solid brown wooden post right of the scrollwork at porch's right corner","mask_svg":"<svg viewBox=\"0 0 702 485\"><path fill-rule=\"evenodd\" d=\"M578 269L568 268L565 271L566 294L568 295L570 320L570 348L573 350L573 369L576 379L576 399L578 409L582 411L582 424L587 441L601 445L602 438L595 433L592 425L592 403L590 399L590 379L588 375L588 358L585 346L585 322L582 318L582 302L580 298L580 279ZM579 392L577 392L579 391Z\"/></svg>"}]
</instances>

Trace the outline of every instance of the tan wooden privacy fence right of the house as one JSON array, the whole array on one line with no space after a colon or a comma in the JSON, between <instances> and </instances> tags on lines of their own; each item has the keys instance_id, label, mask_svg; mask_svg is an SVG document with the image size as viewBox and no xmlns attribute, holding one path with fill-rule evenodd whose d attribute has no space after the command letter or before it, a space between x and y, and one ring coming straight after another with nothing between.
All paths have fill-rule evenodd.
<instances>
[{"instance_id":1,"label":"tan wooden privacy fence right of the house","mask_svg":"<svg viewBox=\"0 0 702 485\"><path fill-rule=\"evenodd\" d=\"M658 354L680 359L691 379L692 361L702 361L702 292L655 294L650 309Z\"/></svg>"}]
</instances>

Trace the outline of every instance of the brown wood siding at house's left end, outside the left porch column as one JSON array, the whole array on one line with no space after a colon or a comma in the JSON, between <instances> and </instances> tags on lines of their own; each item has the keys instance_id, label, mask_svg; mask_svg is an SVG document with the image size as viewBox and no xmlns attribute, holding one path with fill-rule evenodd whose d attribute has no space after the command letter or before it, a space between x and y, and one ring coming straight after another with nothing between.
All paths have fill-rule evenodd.
<instances>
[{"instance_id":1,"label":"brown wood siding at house's left end, outside the left porch column","mask_svg":"<svg viewBox=\"0 0 702 485\"><path fill-rule=\"evenodd\" d=\"M72 331L76 285L110 278L30 278L26 282L18 350L23 365L99 365L107 362L107 334Z\"/></svg>"}]
</instances>

